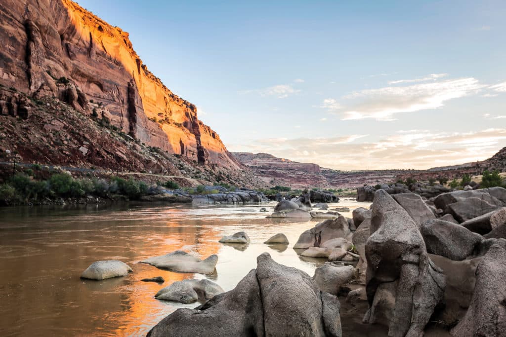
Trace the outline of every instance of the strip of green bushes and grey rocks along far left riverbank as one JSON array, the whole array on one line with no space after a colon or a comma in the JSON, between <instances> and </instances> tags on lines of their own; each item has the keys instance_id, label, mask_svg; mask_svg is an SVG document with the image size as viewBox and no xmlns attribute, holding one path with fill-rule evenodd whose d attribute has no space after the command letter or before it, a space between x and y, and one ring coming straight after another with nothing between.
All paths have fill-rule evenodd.
<instances>
[{"instance_id":1,"label":"strip of green bushes and grey rocks along far left riverbank","mask_svg":"<svg viewBox=\"0 0 506 337\"><path fill-rule=\"evenodd\" d=\"M133 177L74 177L59 167L34 164L0 175L0 206L105 204L119 201L191 203L255 203L268 199L262 192L229 184L180 187L176 181L145 182Z\"/></svg>"}]
</instances>

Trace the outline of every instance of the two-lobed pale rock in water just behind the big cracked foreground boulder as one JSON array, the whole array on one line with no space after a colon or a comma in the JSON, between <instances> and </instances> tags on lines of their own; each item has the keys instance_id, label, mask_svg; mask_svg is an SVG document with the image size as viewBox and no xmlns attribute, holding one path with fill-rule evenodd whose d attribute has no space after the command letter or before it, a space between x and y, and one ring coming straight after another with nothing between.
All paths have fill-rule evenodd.
<instances>
[{"instance_id":1,"label":"two-lobed pale rock in water just behind the big cracked foreground boulder","mask_svg":"<svg viewBox=\"0 0 506 337\"><path fill-rule=\"evenodd\" d=\"M155 299L188 304L199 299L209 300L221 293L222 287L208 279L186 279L162 288L156 293Z\"/></svg>"}]
</instances>

